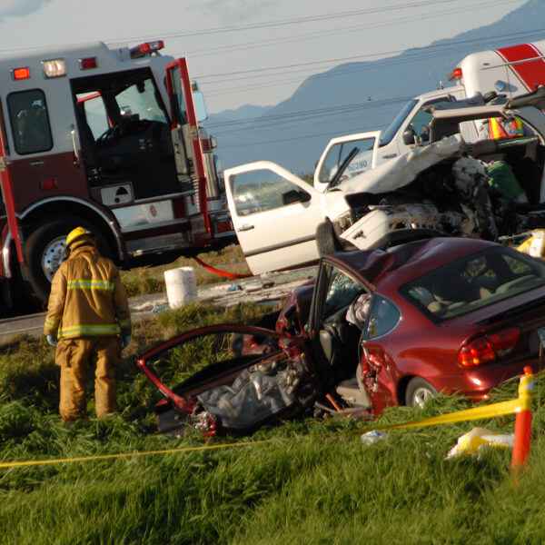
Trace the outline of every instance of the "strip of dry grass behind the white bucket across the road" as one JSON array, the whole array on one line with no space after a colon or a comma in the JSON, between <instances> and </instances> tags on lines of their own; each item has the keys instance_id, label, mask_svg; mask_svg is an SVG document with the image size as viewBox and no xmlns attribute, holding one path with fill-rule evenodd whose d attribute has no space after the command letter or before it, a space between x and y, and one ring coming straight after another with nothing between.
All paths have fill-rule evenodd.
<instances>
[{"instance_id":1,"label":"strip of dry grass behind the white bucket across the road","mask_svg":"<svg viewBox=\"0 0 545 545\"><path fill-rule=\"evenodd\" d=\"M241 247L236 244L226 246L218 251L200 253L198 257L204 263L227 272L250 273ZM161 293L164 292L164 272L177 267L194 267L197 285L228 282L225 278L206 271L199 263L188 257L180 257L173 263L166 265L138 267L130 271L123 271L121 277L130 297L147 293Z\"/></svg>"}]
</instances>

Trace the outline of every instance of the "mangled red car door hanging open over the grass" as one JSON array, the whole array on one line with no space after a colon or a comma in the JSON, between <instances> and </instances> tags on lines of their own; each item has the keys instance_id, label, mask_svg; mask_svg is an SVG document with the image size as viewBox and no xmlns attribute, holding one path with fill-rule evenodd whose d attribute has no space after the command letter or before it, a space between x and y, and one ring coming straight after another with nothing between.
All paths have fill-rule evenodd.
<instances>
[{"instance_id":1,"label":"mangled red car door hanging open over the grass","mask_svg":"<svg viewBox=\"0 0 545 545\"><path fill-rule=\"evenodd\" d=\"M312 405L319 388L302 338L213 325L162 342L137 366L164 397L159 431L246 433Z\"/></svg>"}]
</instances>

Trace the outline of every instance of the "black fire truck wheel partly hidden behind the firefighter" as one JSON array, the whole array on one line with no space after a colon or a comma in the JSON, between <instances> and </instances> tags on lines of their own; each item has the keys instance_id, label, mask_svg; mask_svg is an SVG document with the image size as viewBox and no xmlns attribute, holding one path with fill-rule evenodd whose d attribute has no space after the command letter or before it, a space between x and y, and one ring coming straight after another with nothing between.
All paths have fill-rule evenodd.
<instances>
[{"instance_id":1,"label":"black fire truck wheel partly hidden behind the firefighter","mask_svg":"<svg viewBox=\"0 0 545 545\"><path fill-rule=\"evenodd\" d=\"M64 238L78 225L95 234L99 250L103 255L111 255L108 243L94 225L82 222L79 218L66 217L63 220L40 225L26 240L25 261L33 297L42 304L47 302L54 272L62 263L63 257L60 252L64 249Z\"/></svg>"}]
</instances>

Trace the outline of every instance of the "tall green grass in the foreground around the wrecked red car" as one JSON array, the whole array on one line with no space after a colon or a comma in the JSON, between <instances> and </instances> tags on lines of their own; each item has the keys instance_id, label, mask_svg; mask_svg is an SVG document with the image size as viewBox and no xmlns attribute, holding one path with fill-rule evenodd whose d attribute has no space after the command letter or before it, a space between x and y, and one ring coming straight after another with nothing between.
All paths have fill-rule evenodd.
<instances>
[{"instance_id":1,"label":"tall green grass in the foreground around the wrecked red car","mask_svg":"<svg viewBox=\"0 0 545 545\"><path fill-rule=\"evenodd\" d=\"M158 399L131 356L203 323L253 321L244 306L193 306L139 324L119 370L121 412L66 428L56 415L57 369L43 343L0 352L0 459L27 460L202 444L154 434ZM191 369L187 369L191 372ZM540 381L540 390L545 379ZM511 381L494 401L514 397ZM0 470L0 543L542 543L545 410L536 401L530 465L518 486L510 453L445 461L474 425L511 431L512 418L392 432L363 446L361 422L307 419L259 431L270 442L232 451ZM92 401L89 408L92 409ZM405 421L466 407L439 398ZM220 440L214 440L218 442ZM240 441L240 440L238 440Z\"/></svg>"}]
</instances>

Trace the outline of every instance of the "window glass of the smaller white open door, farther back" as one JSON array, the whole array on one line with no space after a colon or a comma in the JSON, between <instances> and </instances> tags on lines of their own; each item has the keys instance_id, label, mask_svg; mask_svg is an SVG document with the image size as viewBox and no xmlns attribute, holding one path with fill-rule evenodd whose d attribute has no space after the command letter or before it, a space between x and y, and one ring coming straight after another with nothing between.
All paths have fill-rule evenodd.
<instances>
[{"instance_id":1,"label":"window glass of the smaller white open door, farther back","mask_svg":"<svg viewBox=\"0 0 545 545\"><path fill-rule=\"evenodd\" d=\"M372 150L374 144L375 138L362 138L360 140L333 144L323 160L318 179L321 183L330 183L339 167L354 149L356 150L356 152L353 152L355 155L344 170L341 181L369 170L372 167Z\"/></svg>"}]
</instances>

